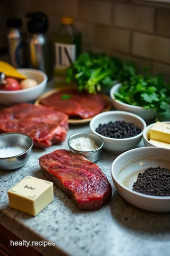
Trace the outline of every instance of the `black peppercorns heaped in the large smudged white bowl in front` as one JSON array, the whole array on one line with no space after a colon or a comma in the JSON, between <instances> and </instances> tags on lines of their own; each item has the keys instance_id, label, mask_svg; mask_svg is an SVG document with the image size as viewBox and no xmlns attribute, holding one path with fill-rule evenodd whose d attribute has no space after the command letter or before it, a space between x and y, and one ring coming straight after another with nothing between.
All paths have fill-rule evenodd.
<instances>
[{"instance_id":1,"label":"black peppercorns heaped in the large smudged white bowl in front","mask_svg":"<svg viewBox=\"0 0 170 256\"><path fill-rule=\"evenodd\" d=\"M133 190L155 196L170 196L170 171L165 168L150 167L139 173Z\"/></svg>"}]
</instances>

